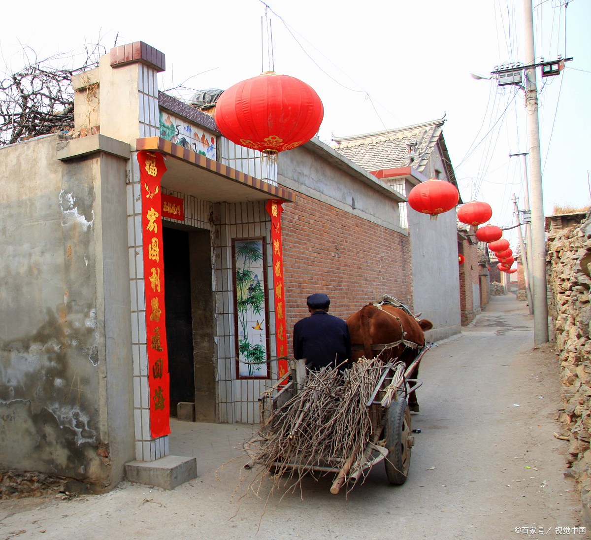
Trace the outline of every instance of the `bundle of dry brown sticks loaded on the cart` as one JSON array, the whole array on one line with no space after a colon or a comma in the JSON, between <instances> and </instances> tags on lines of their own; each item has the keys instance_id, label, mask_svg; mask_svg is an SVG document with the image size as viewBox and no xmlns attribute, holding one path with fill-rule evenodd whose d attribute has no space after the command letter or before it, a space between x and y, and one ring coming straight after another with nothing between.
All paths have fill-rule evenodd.
<instances>
[{"instance_id":1,"label":"bundle of dry brown sticks loaded on the cart","mask_svg":"<svg viewBox=\"0 0 591 540\"><path fill-rule=\"evenodd\" d=\"M304 386L251 439L251 463L275 472L274 487L282 480L296 487L307 474L337 471L342 481L353 480L352 489L359 465L371 454L368 443L381 431L372 425L367 403L383 373L377 358L362 358L344 374L337 368L310 371ZM358 474L349 476L351 470Z\"/></svg>"}]
</instances>

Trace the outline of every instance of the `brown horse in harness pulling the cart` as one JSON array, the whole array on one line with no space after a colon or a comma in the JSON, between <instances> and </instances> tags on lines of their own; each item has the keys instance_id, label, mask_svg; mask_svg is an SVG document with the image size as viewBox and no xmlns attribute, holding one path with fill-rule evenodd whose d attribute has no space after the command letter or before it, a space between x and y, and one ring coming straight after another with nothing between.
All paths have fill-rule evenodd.
<instances>
[{"instance_id":1,"label":"brown horse in harness pulling the cart","mask_svg":"<svg viewBox=\"0 0 591 540\"><path fill-rule=\"evenodd\" d=\"M369 303L347 319L351 338L352 360L362 356L382 361L401 360L406 366L413 363L418 351L425 345L424 332L433 328L427 319L417 319L410 312L388 303ZM409 379L418 376L418 364ZM416 392L408 397L410 410L418 412Z\"/></svg>"}]
</instances>

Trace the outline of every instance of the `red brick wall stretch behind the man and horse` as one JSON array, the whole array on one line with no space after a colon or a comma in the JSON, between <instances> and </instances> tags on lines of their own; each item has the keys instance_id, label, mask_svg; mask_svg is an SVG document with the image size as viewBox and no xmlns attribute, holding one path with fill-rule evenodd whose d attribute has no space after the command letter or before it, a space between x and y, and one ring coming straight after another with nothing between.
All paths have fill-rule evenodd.
<instances>
[{"instance_id":1,"label":"red brick wall stretch behind the man and horse","mask_svg":"<svg viewBox=\"0 0 591 540\"><path fill-rule=\"evenodd\" d=\"M329 295L330 313L342 319L384 294L412 309L407 235L300 193L285 203L281 227L290 351L293 325L308 315L311 293Z\"/></svg>"}]
</instances>

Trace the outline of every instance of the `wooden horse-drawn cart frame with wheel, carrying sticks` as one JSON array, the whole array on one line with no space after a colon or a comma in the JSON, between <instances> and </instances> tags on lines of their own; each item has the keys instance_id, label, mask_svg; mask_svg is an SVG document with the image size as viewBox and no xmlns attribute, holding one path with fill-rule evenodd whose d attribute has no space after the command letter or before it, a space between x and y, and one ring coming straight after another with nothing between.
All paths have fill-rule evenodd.
<instances>
[{"instance_id":1,"label":"wooden horse-drawn cart frame with wheel, carrying sticks","mask_svg":"<svg viewBox=\"0 0 591 540\"><path fill-rule=\"evenodd\" d=\"M379 366L381 370L379 382L366 403L371 419L371 435L366 441L361 458L353 460L342 455L322 456L322 459L315 459L310 465L277 461L269 468L285 470L293 467L300 471L304 469L328 474L336 473L330 492L339 493L346 481L355 483L369 468L384 461L389 483L403 484L408 477L411 450L414 444L407 398L422 384L422 381L408 377L431 345L427 344L420 348L408 367L400 361ZM265 426L275 411L288 403L294 393L306 384L307 370L304 361L290 360L289 363L291 373L259 397L261 426ZM251 457L251 462L245 465L246 468L261 463L256 460L260 444L261 438L257 436L245 442L244 450Z\"/></svg>"}]
</instances>

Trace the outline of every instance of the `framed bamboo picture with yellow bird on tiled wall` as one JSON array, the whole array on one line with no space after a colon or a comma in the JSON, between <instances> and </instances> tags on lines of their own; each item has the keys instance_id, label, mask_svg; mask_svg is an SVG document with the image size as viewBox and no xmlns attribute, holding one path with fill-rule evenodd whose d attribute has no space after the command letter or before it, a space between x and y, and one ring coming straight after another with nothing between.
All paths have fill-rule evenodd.
<instances>
[{"instance_id":1,"label":"framed bamboo picture with yellow bird on tiled wall","mask_svg":"<svg viewBox=\"0 0 591 540\"><path fill-rule=\"evenodd\" d=\"M263 238L232 241L236 377L269 379L267 256Z\"/></svg>"}]
</instances>

